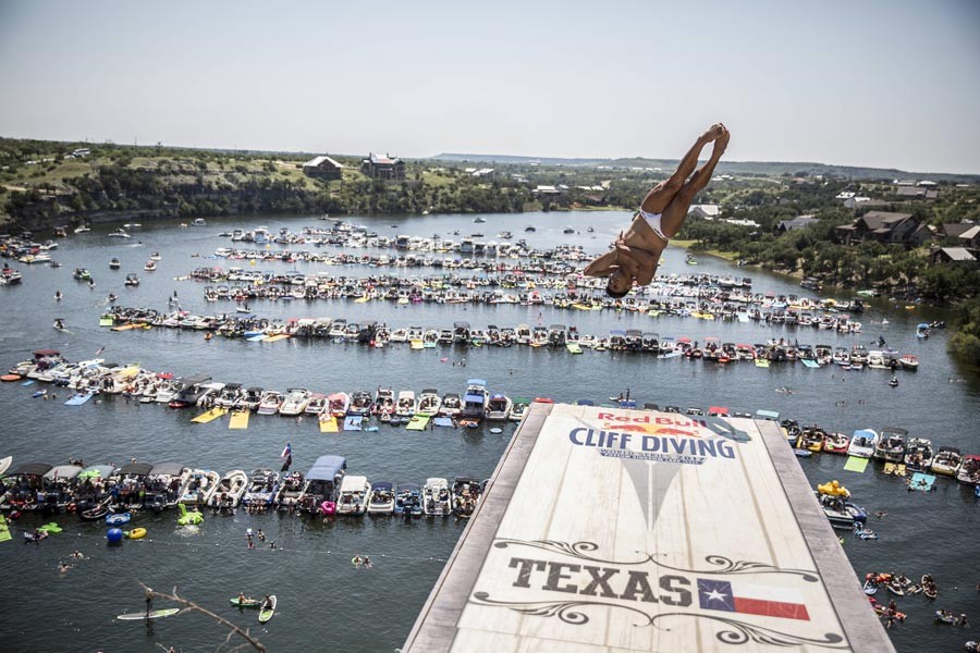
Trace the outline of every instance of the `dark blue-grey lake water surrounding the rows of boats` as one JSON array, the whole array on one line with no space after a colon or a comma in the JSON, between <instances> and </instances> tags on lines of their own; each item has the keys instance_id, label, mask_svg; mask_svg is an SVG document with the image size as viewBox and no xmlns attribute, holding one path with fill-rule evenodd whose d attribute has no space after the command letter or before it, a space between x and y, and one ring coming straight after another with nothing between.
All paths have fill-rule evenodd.
<instances>
[{"instance_id":1,"label":"dark blue-grey lake water surrounding the rows of boats","mask_svg":"<svg viewBox=\"0 0 980 653\"><path fill-rule=\"evenodd\" d=\"M480 231L492 239L497 232L507 230L516 237L525 237L531 246L572 243L599 252L629 215L583 212L485 218L483 224L474 224L473 215L352 221L385 235L439 233L454 237L450 235L454 231L463 235ZM923 308L907 310L885 301L873 303L856 317L865 324L863 333L821 331L819 335L816 330L794 331L755 322L563 311L551 306L397 307L384 301L320 300L256 301L253 310L269 318L373 319L392 328L442 328L456 320L479 328L490 323L516 326L556 322L575 324L580 332L597 335L604 335L610 329L636 328L675 338L718 336L722 341L755 343L788 337L800 343L847 347L861 343L869 348L882 335L891 347L915 354L921 361L918 372L899 373L897 387L890 387L891 374L879 370L841 372L788 364L760 369L744 362L720 367L683 358L663 360L612 352L586 350L581 356L571 356L543 347L438 347L412 352L405 345L369 349L326 341L246 343L216 337L206 342L199 332L110 332L98 326L110 292L119 295L121 306L166 310L168 297L176 291L181 306L192 312L231 310L231 304L207 304L203 283L175 278L200 266L241 264L207 257L218 247L231 245L228 238L218 237L220 232L250 230L260 224L273 232L280 226L297 232L304 225L322 227L329 223L277 215L215 219L204 227L169 222L133 230L130 239L108 237L110 230L101 227L61 239L60 248L53 252L61 268L16 263L24 283L0 287L0 367L29 358L30 352L38 348L57 348L69 359L81 360L94 357L105 347L100 356L120 364L138 361L145 368L177 375L207 372L216 381L279 390L303 386L318 392L352 392L385 385L395 392L436 387L440 392L462 393L466 379L479 377L488 380L491 392L511 397L549 396L560 402L586 398L600 403L628 387L640 404L652 402L682 408L723 405L750 411L764 408L848 433L860 428L897 426L914 436L931 438L935 445L980 453L980 377L950 359L944 332L926 341L915 336L918 322L945 316ZM392 227L393 224L397 226ZM525 233L528 224L537 231ZM569 224L578 233L563 234L563 227ZM588 233L587 226L592 226L595 233ZM143 264L154 251L159 251L163 260L156 272L144 272ZM112 257L122 261L121 270L109 270ZM756 292L808 294L792 280L735 269L706 256L698 257L697 268L685 266L683 251L676 248L669 249L665 258L662 272L751 275ZM93 271L94 289L72 279L75 267ZM261 262L257 269L293 268L282 262ZM296 269L346 275L376 272L366 267L331 268L316 263L299 263ZM392 270L384 270L389 271ZM135 288L124 287L127 272L137 272L143 283ZM403 274L434 272L438 271L402 270ZM64 295L60 303L53 299L58 289ZM850 294L837 296L846 298ZM59 317L66 321L69 332L51 328ZM884 320L886 324L882 323ZM781 387L794 392L777 393ZM487 427L417 433L381 426L377 432L321 434L315 420L297 422L253 416L246 431L230 431L226 418L208 424L192 423L191 418L198 410L170 410L160 405L126 403L121 397L73 408L62 401L32 398L33 390L19 383L0 386L4 422L0 456L13 455L14 466L27 461L61 464L69 456L76 456L88 464L121 464L136 457L222 472L278 468L279 455L290 442L294 469L305 471L318 456L340 454L347 458L352 473L366 475L370 480L422 483L428 477L489 477L514 429L507 424L502 434L492 434ZM59 399L62 398L68 398L66 392L63 397L59 393ZM903 571L912 578L928 572L940 587L934 602L921 595L898 599L898 608L909 618L891 631L897 649L958 650L967 639L980 638L977 626L964 630L932 623L933 611L944 607L957 614L966 612L980 624L980 593L975 590L980 582L976 563L980 554L976 537L980 502L972 491L940 479L936 492L908 493L898 479L884 476L877 464L863 475L856 475L842 470L844 460L823 454L804 459L801 465L814 483L838 479L854 492L857 503L870 512L887 513L881 520L872 518L873 523L869 525L881 539L861 541L845 534L844 547L856 571ZM14 541L0 544L0 574L9 596L0 616L4 650L148 653L159 650L159 642L181 651L213 651L222 641L222 627L198 614L161 619L149 626L117 620L118 614L143 608L138 580L160 590L176 587L180 594L249 627L271 651L393 651L404 641L464 527L453 518L322 521L240 512L233 517L209 515L200 529L188 531L176 527L173 514L150 514L134 520L135 526L147 528L145 540L110 547L106 545L103 525L82 523L66 516L57 521L64 527L63 533L38 545L25 545L16 531L41 520L24 517L15 523ZM268 540L275 542L277 550L247 550L247 528L261 528ZM88 558L75 563L68 572L59 572L59 560L68 560L73 550L82 551ZM369 555L375 567L356 569L351 558L358 554ZM249 595L277 594L275 617L260 626L254 613L230 607L228 599L240 591ZM158 601L156 606L164 603Z\"/></svg>"}]
</instances>

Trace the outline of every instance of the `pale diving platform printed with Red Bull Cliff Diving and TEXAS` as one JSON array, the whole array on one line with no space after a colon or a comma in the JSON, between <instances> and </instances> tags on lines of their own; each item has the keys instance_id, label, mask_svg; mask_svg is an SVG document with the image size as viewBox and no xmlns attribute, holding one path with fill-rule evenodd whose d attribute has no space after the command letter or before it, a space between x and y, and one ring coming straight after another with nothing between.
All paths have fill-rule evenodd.
<instances>
[{"instance_id":1,"label":"pale diving platform printed with Red Bull Cliff Diving and TEXAS","mask_svg":"<svg viewBox=\"0 0 980 653\"><path fill-rule=\"evenodd\" d=\"M402 651L894 648L776 422L536 403Z\"/></svg>"}]
</instances>

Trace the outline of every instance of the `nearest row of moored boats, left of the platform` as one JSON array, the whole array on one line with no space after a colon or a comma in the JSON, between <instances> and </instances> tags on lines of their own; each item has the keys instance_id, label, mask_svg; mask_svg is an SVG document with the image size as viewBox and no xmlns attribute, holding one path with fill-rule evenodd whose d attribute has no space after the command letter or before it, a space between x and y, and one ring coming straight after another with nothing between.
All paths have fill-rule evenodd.
<instances>
[{"instance_id":1,"label":"nearest row of moored boats, left of the platform","mask_svg":"<svg viewBox=\"0 0 980 653\"><path fill-rule=\"evenodd\" d=\"M400 515L468 517L487 481L471 477L429 478L424 484L376 481L347 473L343 456L317 458L307 472L235 469L220 475L177 463L135 458L117 467L29 463L13 468L0 483L0 509L75 514L86 521L126 523L134 513L179 509L181 526L204 521L200 510L234 513L286 510L307 515ZM191 508L188 510L188 507Z\"/></svg>"}]
</instances>

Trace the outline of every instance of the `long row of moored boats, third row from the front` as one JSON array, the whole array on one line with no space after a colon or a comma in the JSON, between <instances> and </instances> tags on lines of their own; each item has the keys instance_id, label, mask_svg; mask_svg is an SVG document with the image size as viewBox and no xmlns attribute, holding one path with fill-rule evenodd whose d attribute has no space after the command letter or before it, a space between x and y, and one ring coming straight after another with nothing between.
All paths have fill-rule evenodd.
<instances>
[{"instance_id":1,"label":"long row of moored boats, third row from the front","mask_svg":"<svg viewBox=\"0 0 980 653\"><path fill-rule=\"evenodd\" d=\"M422 326L389 328L372 320L348 322L345 318L291 318L282 321L257 318L254 315L197 316L187 311L160 312L155 309L113 306L99 320L102 326L115 331L163 326L170 329L205 331L232 338L250 342L282 340L286 337L319 338L332 343L359 343L365 346L383 348L392 344L407 343L413 349L458 345L466 347L514 345L530 347L564 348L572 354L581 354L590 348L597 352L646 353L661 358L686 357L710 362L728 364L755 361L767 366L770 362L800 361L807 367L835 365L842 369L915 371L919 367L918 357L899 355L889 348L867 349L863 345L852 347L826 344L800 344L787 338L769 338L764 343L722 342L708 336L701 341L689 337L674 338L661 336L652 331L639 329L613 329L607 335L579 333L574 325L551 324L550 326L517 324L486 329L473 328L469 322L457 321L452 328Z\"/></svg>"}]
</instances>

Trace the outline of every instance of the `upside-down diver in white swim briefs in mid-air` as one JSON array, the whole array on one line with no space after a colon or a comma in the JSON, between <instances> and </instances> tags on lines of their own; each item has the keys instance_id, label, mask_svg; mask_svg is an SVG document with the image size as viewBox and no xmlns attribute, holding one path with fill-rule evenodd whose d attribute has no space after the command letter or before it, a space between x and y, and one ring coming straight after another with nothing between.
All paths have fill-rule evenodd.
<instances>
[{"instance_id":1,"label":"upside-down diver in white swim briefs in mid-air","mask_svg":"<svg viewBox=\"0 0 980 653\"><path fill-rule=\"evenodd\" d=\"M634 282L638 285L652 282L660 256L684 224L695 196L711 180L714 167L728 146L728 130L722 123L712 125L699 136L674 174L647 194L639 212L629 227L620 234L613 249L590 262L583 273L608 276L605 292L614 298L624 297ZM711 157L695 171L701 149L712 141Z\"/></svg>"}]
</instances>

